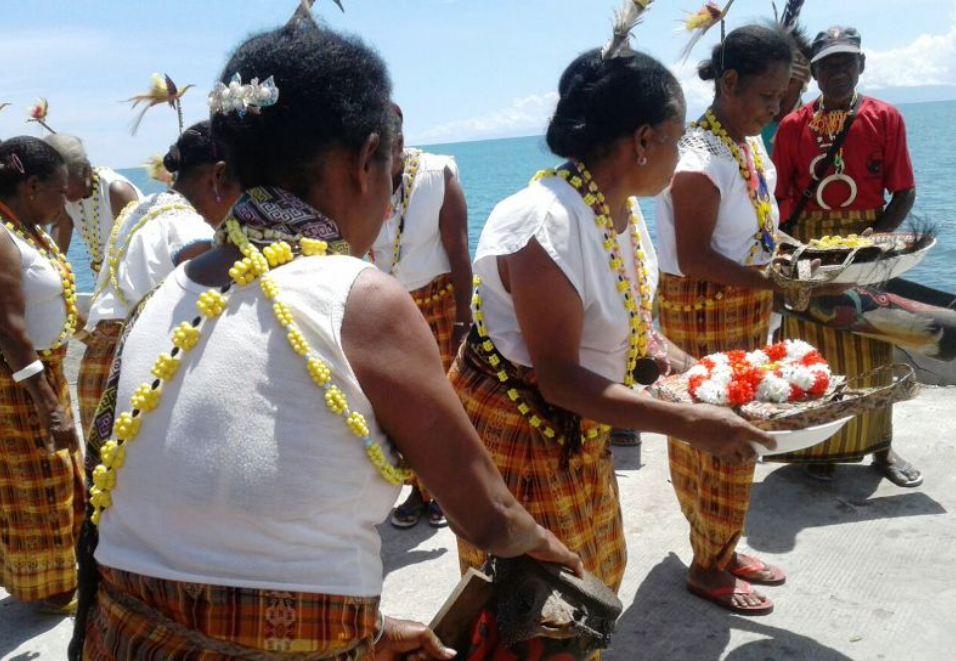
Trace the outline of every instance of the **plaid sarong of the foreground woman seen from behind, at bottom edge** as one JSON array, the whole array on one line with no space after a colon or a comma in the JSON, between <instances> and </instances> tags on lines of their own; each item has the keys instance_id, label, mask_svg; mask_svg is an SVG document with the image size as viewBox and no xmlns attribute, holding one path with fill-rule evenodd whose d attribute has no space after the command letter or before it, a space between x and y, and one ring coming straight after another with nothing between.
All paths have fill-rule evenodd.
<instances>
[{"instance_id":1,"label":"plaid sarong of the foreground woman seen from behind, at bottom edge","mask_svg":"<svg viewBox=\"0 0 956 661\"><path fill-rule=\"evenodd\" d=\"M377 597L167 581L100 567L83 658L353 661L372 656Z\"/></svg>"}]
</instances>

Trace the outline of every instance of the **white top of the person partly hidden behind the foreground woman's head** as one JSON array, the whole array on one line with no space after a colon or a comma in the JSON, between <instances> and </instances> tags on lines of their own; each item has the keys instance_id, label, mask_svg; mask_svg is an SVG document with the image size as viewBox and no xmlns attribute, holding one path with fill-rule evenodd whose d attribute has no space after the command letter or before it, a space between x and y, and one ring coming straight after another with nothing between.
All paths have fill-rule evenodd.
<instances>
[{"instance_id":1,"label":"white top of the person partly hidden behind the foreground woman's head","mask_svg":"<svg viewBox=\"0 0 956 661\"><path fill-rule=\"evenodd\" d=\"M438 217L445 202L445 169L458 177L458 166L451 156L422 152L418 174L408 198L405 229L402 231L401 259L392 268L395 235L402 218L401 186L392 195L392 212L382 224L372 257L375 265L398 278L408 291L414 291L444 273L451 273L451 262L441 242Z\"/></svg>"}]
</instances>

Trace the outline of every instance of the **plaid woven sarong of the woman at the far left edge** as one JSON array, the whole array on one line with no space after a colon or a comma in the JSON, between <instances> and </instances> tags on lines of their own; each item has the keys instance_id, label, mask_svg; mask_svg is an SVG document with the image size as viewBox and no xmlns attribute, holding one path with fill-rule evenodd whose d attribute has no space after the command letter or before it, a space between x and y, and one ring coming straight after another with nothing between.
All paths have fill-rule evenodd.
<instances>
[{"instance_id":1,"label":"plaid woven sarong of the woman at the far left edge","mask_svg":"<svg viewBox=\"0 0 956 661\"><path fill-rule=\"evenodd\" d=\"M69 412L66 346L43 364ZM0 358L0 584L20 601L76 588L74 547L83 521L80 451L47 453L33 399Z\"/></svg>"}]
</instances>

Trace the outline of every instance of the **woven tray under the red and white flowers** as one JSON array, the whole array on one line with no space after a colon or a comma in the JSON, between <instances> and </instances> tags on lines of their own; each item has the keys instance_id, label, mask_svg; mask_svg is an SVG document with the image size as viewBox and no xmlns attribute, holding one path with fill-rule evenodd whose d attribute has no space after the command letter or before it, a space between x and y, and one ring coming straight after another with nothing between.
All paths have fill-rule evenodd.
<instances>
[{"instance_id":1,"label":"woven tray under the red and white flowers","mask_svg":"<svg viewBox=\"0 0 956 661\"><path fill-rule=\"evenodd\" d=\"M891 376L886 386L865 387L870 379ZM658 381L649 389L659 399L693 404L687 390L687 377L676 374ZM819 399L804 402L751 402L735 409L738 415L755 427L767 431L806 429L816 425L859 415L864 411L890 406L913 399L919 393L919 384L909 365L887 365L865 372L852 379L832 377L830 389Z\"/></svg>"}]
</instances>

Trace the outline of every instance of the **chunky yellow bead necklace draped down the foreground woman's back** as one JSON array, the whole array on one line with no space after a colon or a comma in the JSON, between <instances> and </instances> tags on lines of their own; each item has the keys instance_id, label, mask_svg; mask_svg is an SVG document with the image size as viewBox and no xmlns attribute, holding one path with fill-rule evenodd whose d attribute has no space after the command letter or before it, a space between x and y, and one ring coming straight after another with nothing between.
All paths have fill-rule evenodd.
<instances>
[{"instance_id":1,"label":"chunky yellow bead necklace draped down the foreground woman's back","mask_svg":"<svg viewBox=\"0 0 956 661\"><path fill-rule=\"evenodd\" d=\"M402 484L411 477L411 471L402 466L392 465L371 437L365 416L349 408L345 392L332 383L332 368L318 352L313 349L302 331L299 330L292 310L281 300L279 286L269 271L291 262L297 257L324 256L328 251L325 241L299 238L297 250L286 241L277 240L266 245L261 251L246 234L235 218L225 222L225 234L230 243L242 252L231 269L229 277L238 287L245 287L255 280L263 295L272 301L272 312L279 325L286 330L286 340L293 351L305 359L305 368L312 380L324 391L325 404L329 411L341 416L344 424L365 446L365 453L378 469L382 478L390 484ZM296 254L298 253L298 254ZM126 461L126 446L137 436L143 416L159 405L163 382L173 379L179 370L182 353L193 349L199 342L202 327L206 321L218 317L226 309L232 285L222 289L209 289L199 296L196 307L200 312L192 322L183 322L173 332L173 349L160 354L153 365L152 374L156 377L152 383L144 383L136 389L130 398L130 410L116 418L113 430L116 440L106 442L100 450L101 463L93 471L93 487L90 489L90 504L93 506L91 520L99 525L103 510L113 503L112 491L116 487L116 474Z\"/></svg>"}]
</instances>

